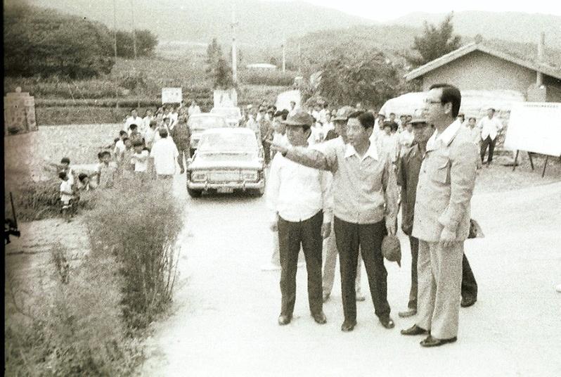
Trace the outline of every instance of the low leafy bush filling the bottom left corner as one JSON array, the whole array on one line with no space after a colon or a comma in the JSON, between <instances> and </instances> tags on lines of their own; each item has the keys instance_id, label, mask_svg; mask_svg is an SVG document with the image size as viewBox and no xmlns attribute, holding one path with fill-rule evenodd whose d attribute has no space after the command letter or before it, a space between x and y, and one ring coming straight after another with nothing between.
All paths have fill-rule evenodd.
<instances>
[{"instance_id":1,"label":"low leafy bush filling the bottom left corner","mask_svg":"<svg viewBox=\"0 0 561 377\"><path fill-rule=\"evenodd\" d=\"M53 255L64 254L60 245ZM65 259L69 258L68 256ZM129 376L143 360L120 317L122 284L110 253L87 255L65 282L8 279L6 376ZM33 295L21 295L33 288Z\"/></svg>"}]
</instances>

